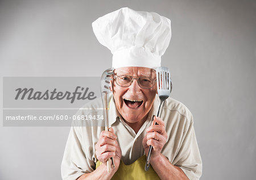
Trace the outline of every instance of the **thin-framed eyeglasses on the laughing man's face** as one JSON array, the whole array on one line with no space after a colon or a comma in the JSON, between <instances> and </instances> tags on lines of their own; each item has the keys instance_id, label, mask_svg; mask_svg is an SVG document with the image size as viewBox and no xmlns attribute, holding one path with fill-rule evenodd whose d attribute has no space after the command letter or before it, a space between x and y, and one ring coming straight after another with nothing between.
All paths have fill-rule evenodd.
<instances>
[{"instance_id":1,"label":"thin-framed eyeglasses on the laughing man's face","mask_svg":"<svg viewBox=\"0 0 256 180\"><path fill-rule=\"evenodd\" d=\"M136 79L139 86L143 89L150 89L155 85L156 79L150 77L133 77L133 76L114 76L115 82L121 87L129 87L133 80Z\"/></svg>"}]
</instances>

